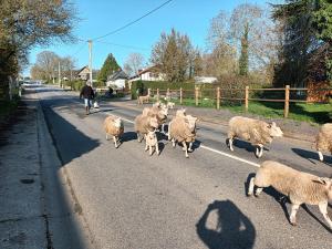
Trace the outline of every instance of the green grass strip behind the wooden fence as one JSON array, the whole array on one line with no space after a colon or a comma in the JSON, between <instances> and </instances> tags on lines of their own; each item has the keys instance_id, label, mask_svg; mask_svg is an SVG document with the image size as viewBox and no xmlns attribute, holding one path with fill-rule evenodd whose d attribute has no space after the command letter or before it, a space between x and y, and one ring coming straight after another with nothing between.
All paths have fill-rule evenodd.
<instances>
[{"instance_id":1,"label":"green grass strip behind the wooden fence","mask_svg":"<svg viewBox=\"0 0 332 249\"><path fill-rule=\"evenodd\" d=\"M179 104L179 100L173 100L173 102ZM184 98L183 105L195 106L195 100ZM249 102L248 112L255 115L260 115L269 118L282 118L283 106L283 103L276 102ZM216 101L200 100L198 107L216 108ZM230 102L221 102L220 108L226 108L234 113L246 112L243 104L231 104ZM290 103L289 118L313 124L323 124L332 122L332 102L326 104Z\"/></svg>"}]
</instances>

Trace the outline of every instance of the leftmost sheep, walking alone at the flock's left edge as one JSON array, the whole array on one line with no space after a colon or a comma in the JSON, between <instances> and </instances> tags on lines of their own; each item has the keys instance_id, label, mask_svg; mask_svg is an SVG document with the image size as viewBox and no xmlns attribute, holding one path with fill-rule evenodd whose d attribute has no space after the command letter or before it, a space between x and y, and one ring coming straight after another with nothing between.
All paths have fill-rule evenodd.
<instances>
[{"instance_id":1,"label":"leftmost sheep, walking alone at the flock's left edge","mask_svg":"<svg viewBox=\"0 0 332 249\"><path fill-rule=\"evenodd\" d=\"M120 136L124 133L124 125L121 117L107 116L104 121L104 128L106 133L106 141L108 141L108 135L113 136L115 148L118 148Z\"/></svg>"}]
</instances>

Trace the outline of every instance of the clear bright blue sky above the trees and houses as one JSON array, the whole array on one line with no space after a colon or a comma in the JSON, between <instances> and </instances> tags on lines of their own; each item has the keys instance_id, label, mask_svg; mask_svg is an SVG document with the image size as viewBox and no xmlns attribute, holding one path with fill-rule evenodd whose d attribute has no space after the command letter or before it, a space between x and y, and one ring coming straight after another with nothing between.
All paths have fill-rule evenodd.
<instances>
[{"instance_id":1,"label":"clear bright blue sky above the trees and houses","mask_svg":"<svg viewBox=\"0 0 332 249\"><path fill-rule=\"evenodd\" d=\"M71 0L76 9L80 21L73 34L80 39L76 43L56 43L50 46L34 48L29 55L30 65L23 75L30 74L30 66L35 62L37 54L53 51L60 56L75 59L77 69L89 64L89 39L110 33L148 11L166 2L166 0ZM92 44L92 68L101 69L108 53L123 66L128 54L142 53L145 63L149 64L153 45L159 40L160 33L169 33L172 28L187 34L194 44L204 50L210 20L221 10L231 12L237 6L250 2L267 7L276 0L173 0L163 8L145 17L138 22L114 34L94 41ZM84 41L81 41L84 40Z\"/></svg>"}]
</instances>

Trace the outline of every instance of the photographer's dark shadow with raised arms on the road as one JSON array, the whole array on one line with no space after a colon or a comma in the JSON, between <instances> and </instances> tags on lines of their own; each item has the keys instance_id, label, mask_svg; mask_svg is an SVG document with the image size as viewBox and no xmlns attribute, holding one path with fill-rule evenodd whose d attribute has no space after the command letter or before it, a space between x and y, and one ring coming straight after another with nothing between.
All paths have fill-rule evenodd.
<instances>
[{"instance_id":1,"label":"photographer's dark shadow with raised arms on the road","mask_svg":"<svg viewBox=\"0 0 332 249\"><path fill-rule=\"evenodd\" d=\"M209 216L214 212L217 214L217 225L209 228ZM196 231L209 249L251 249L256 239L255 226L231 200L209 204L196 224Z\"/></svg>"}]
</instances>

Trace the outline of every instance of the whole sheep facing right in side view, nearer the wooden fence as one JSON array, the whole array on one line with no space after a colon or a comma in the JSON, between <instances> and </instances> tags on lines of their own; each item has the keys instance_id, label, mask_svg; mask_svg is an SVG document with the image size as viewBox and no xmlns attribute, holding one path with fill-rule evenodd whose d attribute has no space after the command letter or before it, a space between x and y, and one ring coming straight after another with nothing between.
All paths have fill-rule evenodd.
<instances>
[{"instance_id":1,"label":"whole sheep facing right in side view, nearer the wooden fence","mask_svg":"<svg viewBox=\"0 0 332 249\"><path fill-rule=\"evenodd\" d=\"M229 121L228 146L234 152L232 141L235 137L240 137L250 141L256 147L256 156L260 158L263 153L263 146L270 144L273 137L282 137L283 133L274 122L268 124L263 121L235 116Z\"/></svg>"}]
</instances>

